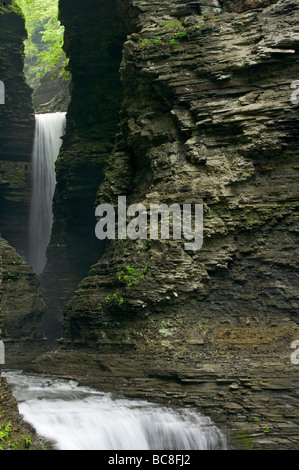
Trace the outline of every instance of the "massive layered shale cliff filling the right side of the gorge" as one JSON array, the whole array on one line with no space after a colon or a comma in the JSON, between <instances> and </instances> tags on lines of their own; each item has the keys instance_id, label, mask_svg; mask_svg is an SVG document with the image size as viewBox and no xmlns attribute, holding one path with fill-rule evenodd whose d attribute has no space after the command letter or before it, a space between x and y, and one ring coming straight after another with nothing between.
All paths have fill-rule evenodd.
<instances>
[{"instance_id":1,"label":"massive layered shale cliff filling the right side of the gorge","mask_svg":"<svg viewBox=\"0 0 299 470\"><path fill-rule=\"evenodd\" d=\"M61 3L74 46L79 19ZM204 243L188 251L184 239L109 241L67 304L60 348L36 370L198 406L225 423L237 448L294 449L298 4L120 0L118 8L131 33L120 69L124 99L96 204L117 207L119 195L146 208L202 203ZM94 25L85 21L85 28ZM74 47L69 56L78 59ZM74 85L65 149L85 143L75 109L82 109L87 75L82 68ZM49 250L53 274L62 218L77 221L75 210L93 210L86 199L81 206L84 188L71 177L77 154L71 163L65 152ZM83 155L94 153L86 146L82 165ZM64 234L79 260L81 245Z\"/></svg>"}]
</instances>

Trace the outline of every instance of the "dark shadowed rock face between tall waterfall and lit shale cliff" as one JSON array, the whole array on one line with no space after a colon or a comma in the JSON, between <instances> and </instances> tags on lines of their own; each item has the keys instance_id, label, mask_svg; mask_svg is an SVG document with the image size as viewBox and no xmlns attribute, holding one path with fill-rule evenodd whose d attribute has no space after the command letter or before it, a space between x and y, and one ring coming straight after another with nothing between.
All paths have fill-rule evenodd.
<instances>
[{"instance_id":1,"label":"dark shadowed rock face between tall waterfall and lit shale cliff","mask_svg":"<svg viewBox=\"0 0 299 470\"><path fill-rule=\"evenodd\" d=\"M96 9L60 2L64 49L70 58L71 101L56 162L53 228L41 275L51 344L63 331L63 308L105 245L95 236L95 199L113 150L123 99L119 67L126 28L115 0ZM90 8L89 8L90 6Z\"/></svg>"}]
</instances>

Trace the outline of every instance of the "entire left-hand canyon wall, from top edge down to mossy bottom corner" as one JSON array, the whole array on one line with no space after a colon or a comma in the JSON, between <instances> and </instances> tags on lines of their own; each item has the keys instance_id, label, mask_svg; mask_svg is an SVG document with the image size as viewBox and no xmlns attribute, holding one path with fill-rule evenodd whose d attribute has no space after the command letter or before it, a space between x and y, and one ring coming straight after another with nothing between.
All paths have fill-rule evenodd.
<instances>
[{"instance_id":1,"label":"entire left-hand canyon wall, from top edge down to mossy bottom corner","mask_svg":"<svg viewBox=\"0 0 299 470\"><path fill-rule=\"evenodd\" d=\"M39 280L19 253L27 253L31 200L31 149L34 135L32 90L23 75L27 36L24 18L13 2L0 5L0 448L50 449L23 421L3 368L22 368L46 351L42 325L45 304ZM16 248L18 252L16 251ZM4 347L3 347L4 345Z\"/></svg>"}]
</instances>

